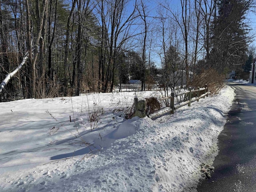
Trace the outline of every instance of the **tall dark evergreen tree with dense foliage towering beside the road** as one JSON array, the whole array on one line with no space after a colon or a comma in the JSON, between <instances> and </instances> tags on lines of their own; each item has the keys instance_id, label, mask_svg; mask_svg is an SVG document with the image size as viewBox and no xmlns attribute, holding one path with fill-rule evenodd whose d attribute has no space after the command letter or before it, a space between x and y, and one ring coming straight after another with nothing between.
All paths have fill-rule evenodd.
<instances>
[{"instance_id":1,"label":"tall dark evergreen tree with dense foliage towering beside the road","mask_svg":"<svg viewBox=\"0 0 256 192\"><path fill-rule=\"evenodd\" d=\"M250 0L217 0L218 16L212 25L212 50L207 61L219 73L244 64L248 26L245 14Z\"/></svg>"}]
</instances>

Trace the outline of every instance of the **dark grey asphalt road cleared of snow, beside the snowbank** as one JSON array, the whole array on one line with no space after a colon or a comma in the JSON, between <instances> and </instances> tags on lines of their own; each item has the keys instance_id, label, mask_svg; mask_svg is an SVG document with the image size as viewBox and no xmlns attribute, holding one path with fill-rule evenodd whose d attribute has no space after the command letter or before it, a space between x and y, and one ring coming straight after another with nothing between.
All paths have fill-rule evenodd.
<instances>
[{"instance_id":1,"label":"dark grey asphalt road cleared of snow, beside the snowbank","mask_svg":"<svg viewBox=\"0 0 256 192\"><path fill-rule=\"evenodd\" d=\"M256 86L230 83L236 100L218 136L219 154L198 192L256 192Z\"/></svg>"}]
</instances>

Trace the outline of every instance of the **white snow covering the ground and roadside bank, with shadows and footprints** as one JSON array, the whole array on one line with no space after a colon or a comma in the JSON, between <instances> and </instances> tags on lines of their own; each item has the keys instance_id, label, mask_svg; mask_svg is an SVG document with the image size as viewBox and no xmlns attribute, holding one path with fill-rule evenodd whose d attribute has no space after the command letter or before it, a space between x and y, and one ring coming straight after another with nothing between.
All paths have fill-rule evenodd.
<instances>
[{"instance_id":1,"label":"white snow covering the ground and roadside bank, with shadows and footprints","mask_svg":"<svg viewBox=\"0 0 256 192\"><path fill-rule=\"evenodd\" d=\"M196 191L200 165L218 153L234 91L154 121L113 112L129 111L135 94L156 93L0 103L0 191Z\"/></svg>"}]
</instances>

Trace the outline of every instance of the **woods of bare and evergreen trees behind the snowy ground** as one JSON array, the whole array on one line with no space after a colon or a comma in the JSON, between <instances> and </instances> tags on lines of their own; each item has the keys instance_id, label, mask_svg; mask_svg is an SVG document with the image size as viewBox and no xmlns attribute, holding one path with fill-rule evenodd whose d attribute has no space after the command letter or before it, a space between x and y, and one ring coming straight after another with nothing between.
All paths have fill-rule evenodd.
<instances>
[{"instance_id":1,"label":"woods of bare and evergreen trees behind the snowy ground","mask_svg":"<svg viewBox=\"0 0 256 192\"><path fill-rule=\"evenodd\" d=\"M0 101L113 92L131 79L168 94L248 71L253 8L253 0L1 0Z\"/></svg>"}]
</instances>

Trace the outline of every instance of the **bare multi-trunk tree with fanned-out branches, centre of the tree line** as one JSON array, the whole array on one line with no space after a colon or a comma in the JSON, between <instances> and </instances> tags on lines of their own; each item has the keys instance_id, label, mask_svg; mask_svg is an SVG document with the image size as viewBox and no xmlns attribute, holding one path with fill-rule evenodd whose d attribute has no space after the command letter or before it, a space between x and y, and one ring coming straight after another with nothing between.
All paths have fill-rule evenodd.
<instances>
[{"instance_id":1,"label":"bare multi-trunk tree with fanned-out branches, centre of the tree line","mask_svg":"<svg viewBox=\"0 0 256 192\"><path fill-rule=\"evenodd\" d=\"M116 58L124 43L132 36L131 26L136 18L136 2L129 14L126 12L128 5L126 0L106 0L101 1L98 5L98 13L102 22L102 38L106 39L102 39L102 55L100 56L101 64L103 64L103 60L106 62L106 71L101 65L102 72L104 69L105 74L102 73L100 76L105 76L103 92L107 92L109 84L110 92L112 92L117 69Z\"/></svg>"}]
</instances>

